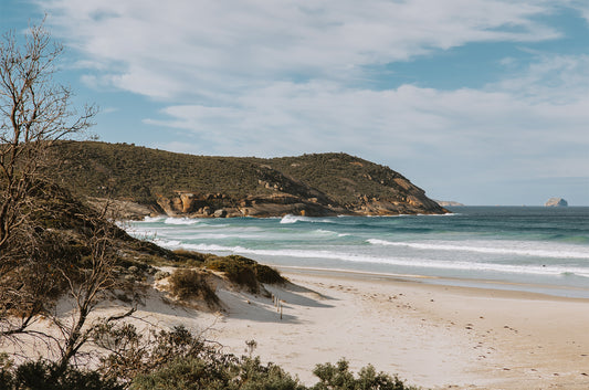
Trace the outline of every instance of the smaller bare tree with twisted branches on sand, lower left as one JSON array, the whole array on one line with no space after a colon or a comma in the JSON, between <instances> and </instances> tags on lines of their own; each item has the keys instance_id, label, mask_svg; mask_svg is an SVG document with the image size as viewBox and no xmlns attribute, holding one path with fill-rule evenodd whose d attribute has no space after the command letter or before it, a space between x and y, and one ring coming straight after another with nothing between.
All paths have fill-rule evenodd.
<instances>
[{"instance_id":1,"label":"smaller bare tree with twisted branches on sand, lower left","mask_svg":"<svg viewBox=\"0 0 589 390\"><path fill-rule=\"evenodd\" d=\"M48 192L59 190L53 186ZM104 211L85 208L67 198L65 190L50 197L57 198L57 210L44 211L56 222L75 228L63 232L45 230L30 252L31 257L20 262L10 274L0 275L0 293L6 298L0 302L0 313L4 315L0 318L3 325L0 341L9 339L15 346L27 346L33 337L46 356L55 360L53 375L60 376L70 365L85 361L80 357L95 357L81 352L82 347L92 342L95 328L130 316L141 288L133 277L127 281L122 275L118 251L125 233L102 217ZM39 197L35 200L40 201ZM101 304L109 305L123 295L126 307L118 313L106 318L96 314ZM50 326L42 329L32 326L40 318Z\"/></svg>"}]
</instances>

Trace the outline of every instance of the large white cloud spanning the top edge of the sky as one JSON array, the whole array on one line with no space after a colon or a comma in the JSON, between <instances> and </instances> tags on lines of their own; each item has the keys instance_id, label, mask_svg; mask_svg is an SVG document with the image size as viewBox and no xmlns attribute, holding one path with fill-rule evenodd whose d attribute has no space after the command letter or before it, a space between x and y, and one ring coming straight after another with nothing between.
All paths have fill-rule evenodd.
<instances>
[{"instance_id":1,"label":"large white cloud spanning the top edge of the sky","mask_svg":"<svg viewBox=\"0 0 589 390\"><path fill-rule=\"evenodd\" d=\"M39 0L69 44L116 65L115 86L155 98L212 98L272 81L344 82L362 65L467 42L559 36L541 1L314 2Z\"/></svg>"}]
</instances>

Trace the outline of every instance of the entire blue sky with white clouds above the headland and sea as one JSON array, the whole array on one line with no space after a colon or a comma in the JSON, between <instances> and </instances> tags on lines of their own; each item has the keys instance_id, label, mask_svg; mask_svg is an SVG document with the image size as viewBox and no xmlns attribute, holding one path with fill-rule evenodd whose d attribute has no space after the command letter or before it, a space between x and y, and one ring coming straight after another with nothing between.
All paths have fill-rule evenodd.
<instances>
[{"instance_id":1,"label":"entire blue sky with white clouds above the headland and sea","mask_svg":"<svg viewBox=\"0 0 589 390\"><path fill-rule=\"evenodd\" d=\"M1 0L46 15L101 140L344 151L430 198L589 205L587 0Z\"/></svg>"}]
</instances>

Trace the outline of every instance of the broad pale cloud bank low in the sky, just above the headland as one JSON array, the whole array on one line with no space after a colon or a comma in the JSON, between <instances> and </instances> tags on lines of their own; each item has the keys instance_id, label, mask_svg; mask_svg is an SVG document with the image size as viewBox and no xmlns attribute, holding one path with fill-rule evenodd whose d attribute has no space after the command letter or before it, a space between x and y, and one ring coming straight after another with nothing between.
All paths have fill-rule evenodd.
<instances>
[{"instance_id":1,"label":"broad pale cloud bank low in the sky, just above the headland","mask_svg":"<svg viewBox=\"0 0 589 390\"><path fill-rule=\"evenodd\" d=\"M554 70L548 64L533 67ZM201 139L193 151L199 154L271 156L336 148L381 161L451 155L452 160L476 160L477 169L497 176L505 169L517 175L585 175L589 96L581 92L587 91L582 85L589 72L571 75L580 84L577 94L561 83L543 91L541 99L534 94L537 77L538 71L528 71L525 78L485 91L448 92L411 85L368 91L329 82L280 83L240 96L232 107L171 106L164 112L168 118L149 123L197 133ZM560 103L565 91L570 96ZM555 158L560 162L538 164Z\"/></svg>"}]
</instances>

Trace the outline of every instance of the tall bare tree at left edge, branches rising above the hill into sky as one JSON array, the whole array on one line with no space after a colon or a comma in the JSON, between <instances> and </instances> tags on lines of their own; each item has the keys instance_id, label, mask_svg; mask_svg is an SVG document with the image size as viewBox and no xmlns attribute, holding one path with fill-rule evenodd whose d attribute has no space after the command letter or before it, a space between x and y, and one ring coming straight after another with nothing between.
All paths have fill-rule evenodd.
<instances>
[{"instance_id":1,"label":"tall bare tree at left edge, branches rising above the hill into sky","mask_svg":"<svg viewBox=\"0 0 589 390\"><path fill-rule=\"evenodd\" d=\"M51 289L51 273L43 271L44 238L30 218L39 212L35 201L46 185L48 150L91 126L96 113L85 107L76 115L71 91L54 83L62 51L42 25L30 28L22 41L8 32L0 42L0 322L15 312L21 319L2 326L0 336L28 328L43 310L40 297L46 294L40 293ZM43 275L32 284L27 283L31 267Z\"/></svg>"}]
</instances>

